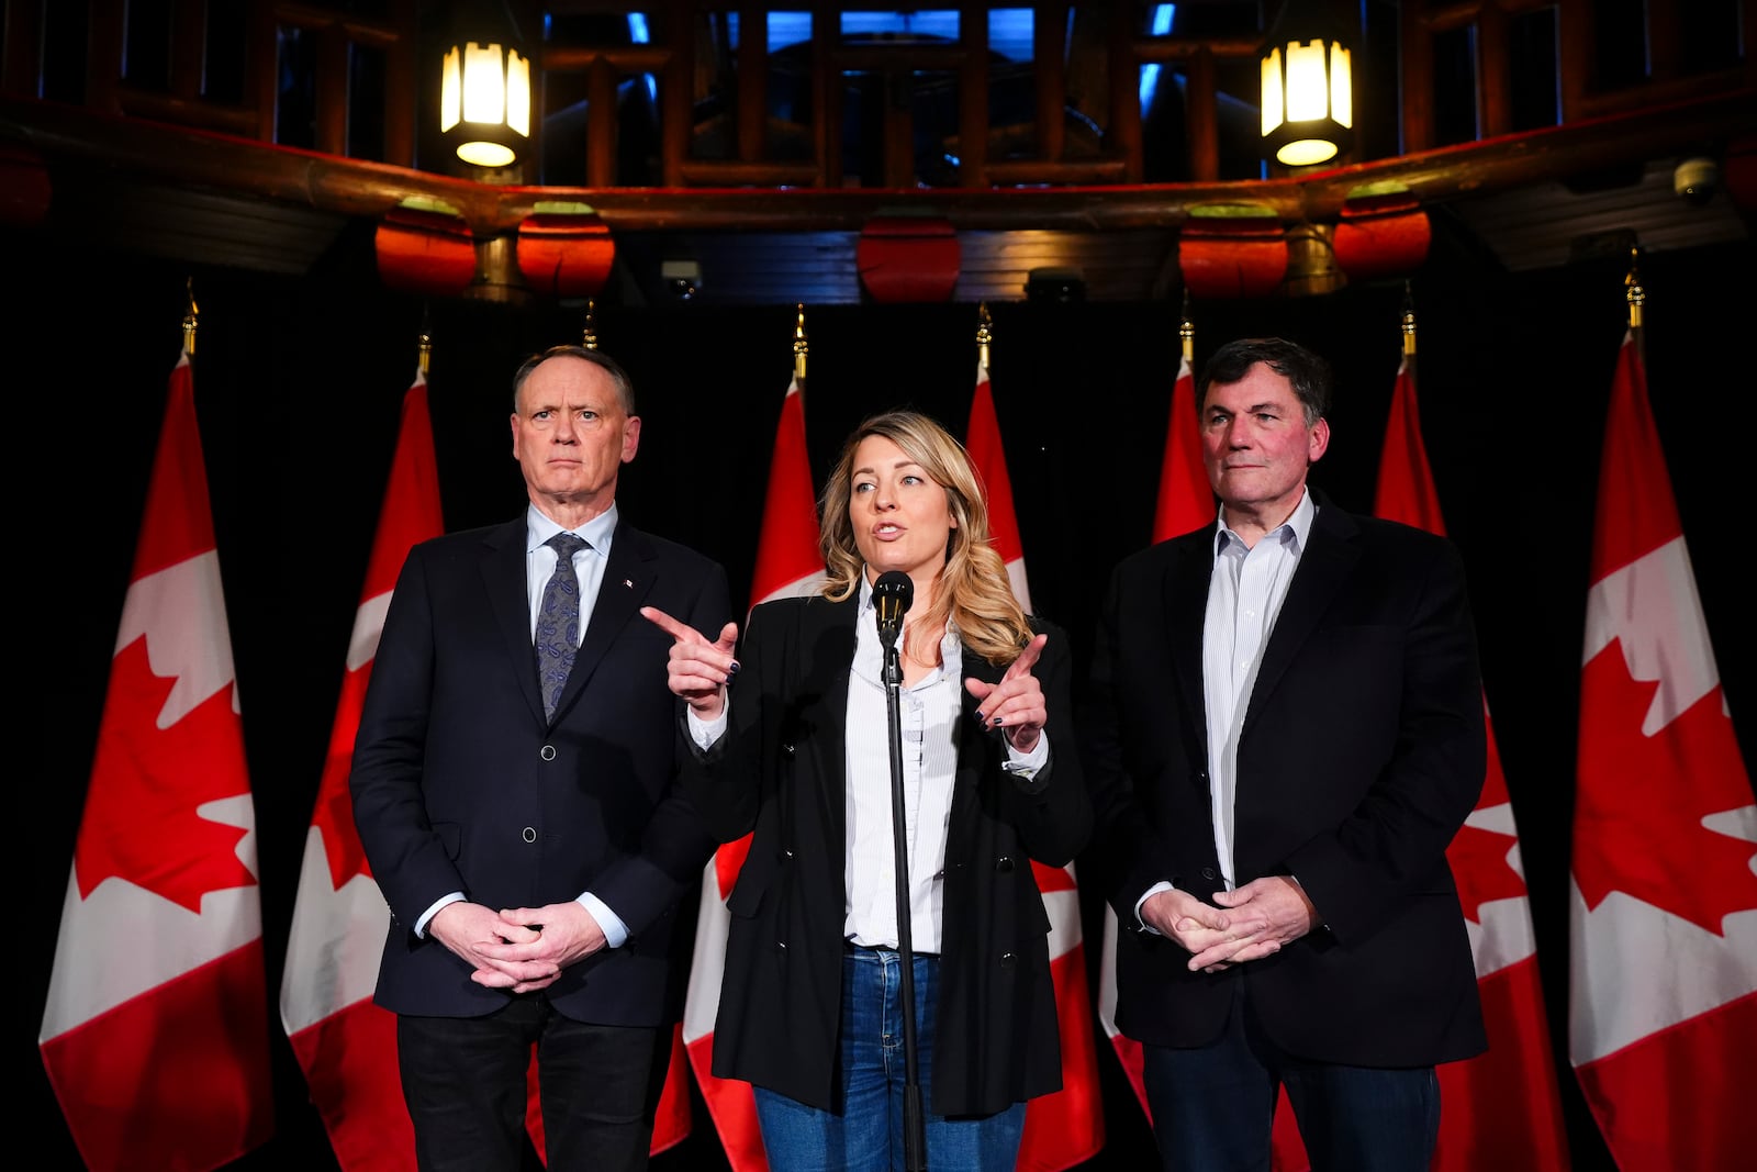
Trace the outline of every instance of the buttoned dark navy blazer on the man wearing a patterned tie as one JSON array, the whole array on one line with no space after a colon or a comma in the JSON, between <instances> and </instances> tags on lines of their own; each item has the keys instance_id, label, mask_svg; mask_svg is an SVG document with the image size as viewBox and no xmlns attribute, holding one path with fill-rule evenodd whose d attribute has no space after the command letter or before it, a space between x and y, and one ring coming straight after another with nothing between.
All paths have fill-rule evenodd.
<instances>
[{"instance_id":1,"label":"buttoned dark navy blazer on the man wearing a patterned tie","mask_svg":"<svg viewBox=\"0 0 1757 1172\"><path fill-rule=\"evenodd\" d=\"M676 787L682 701L666 685L671 638L638 613L648 603L699 631L731 619L719 564L622 522L550 724L524 515L409 550L350 777L360 842L390 905L374 996L385 1009L469 1017L506 1003L443 944L415 937L448 891L490 908L592 891L629 940L562 970L550 1000L601 1024L675 1016L675 905L701 882L715 843Z\"/></svg>"}]
</instances>

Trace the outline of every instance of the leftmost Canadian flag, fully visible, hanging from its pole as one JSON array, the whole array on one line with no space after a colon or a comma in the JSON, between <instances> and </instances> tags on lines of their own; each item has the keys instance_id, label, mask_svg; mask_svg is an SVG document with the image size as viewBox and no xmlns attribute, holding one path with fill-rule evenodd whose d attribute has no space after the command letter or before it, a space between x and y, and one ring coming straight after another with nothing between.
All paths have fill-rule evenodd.
<instances>
[{"instance_id":1,"label":"leftmost Canadian flag, fully visible, hanging from its pole","mask_svg":"<svg viewBox=\"0 0 1757 1172\"><path fill-rule=\"evenodd\" d=\"M39 1033L93 1172L216 1168L274 1130L255 826L184 351Z\"/></svg>"}]
</instances>

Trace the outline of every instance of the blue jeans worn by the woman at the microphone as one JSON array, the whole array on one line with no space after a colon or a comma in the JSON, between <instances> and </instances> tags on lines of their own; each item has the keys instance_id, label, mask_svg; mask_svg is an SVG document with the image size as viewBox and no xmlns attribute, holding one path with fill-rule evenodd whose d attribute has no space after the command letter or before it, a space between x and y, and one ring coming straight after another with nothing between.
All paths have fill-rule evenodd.
<instances>
[{"instance_id":1,"label":"blue jeans worn by the woman at the microphone","mask_svg":"<svg viewBox=\"0 0 1757 1172\"><path fill-rule=\"evenodd\" d=\"M915 1074L929 1172L1012 1172L1024 1103L993 1116L947 1119L933 1102L933 1023L940 961L915 956ZM903 1091L908 1082L901 1017L903 959L854 949L842 961L842 1077L836 1109L817 1111L756 1088L757 1123L773 1172L905 1172Z\"/></svg>"}]
</instances>

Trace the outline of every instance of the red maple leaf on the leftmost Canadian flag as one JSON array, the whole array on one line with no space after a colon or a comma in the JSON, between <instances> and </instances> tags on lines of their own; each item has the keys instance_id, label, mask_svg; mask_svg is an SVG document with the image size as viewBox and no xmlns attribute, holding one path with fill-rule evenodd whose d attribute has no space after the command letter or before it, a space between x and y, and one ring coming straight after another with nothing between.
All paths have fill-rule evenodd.
<instances>
[{"instance_id":1,"label":"red maple leaf on the leftmost Canadian flag","mask_svg":"<svg viewBox=\"0 0 1757 1172\"><path fill-rule=\"evenodd\" d=\"M81 896L116 875L200 914L206 893L257 882L237 857L248 831L195 814L249 794L232 689L160 729L174 684L153 675L144 638L116 654L74 849Z\"/></svg>"}]
</instances>

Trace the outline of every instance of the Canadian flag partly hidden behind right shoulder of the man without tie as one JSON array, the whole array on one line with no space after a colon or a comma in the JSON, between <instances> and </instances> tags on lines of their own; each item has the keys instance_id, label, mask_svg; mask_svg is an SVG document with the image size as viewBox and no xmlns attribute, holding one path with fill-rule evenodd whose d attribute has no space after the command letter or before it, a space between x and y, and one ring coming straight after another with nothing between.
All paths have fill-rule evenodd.
<instances>
[{"instance_id":1,"label":"Canadian flag partly hidden behind right shoulder of the man without tie","mask_svg":"<svg viewBox=\"0 0 1757 1172\"><path fill-rule=\"evenodd\" d=\"M1407 357L1392 392L1374 511L1428 532L1446 532L1421 441L1416 380ZM1485 720L1486 715L1485 701ZM1432 1168L1565 1172L1569 1153L1537 979L1525 865L1492 727L1483 796L1446 857L1471 933L1488 1051L1439 1068L1442 1111Z\"/></svg>"}]
</instances>

